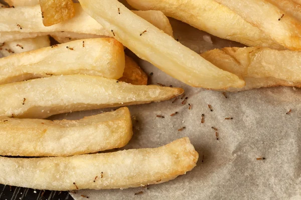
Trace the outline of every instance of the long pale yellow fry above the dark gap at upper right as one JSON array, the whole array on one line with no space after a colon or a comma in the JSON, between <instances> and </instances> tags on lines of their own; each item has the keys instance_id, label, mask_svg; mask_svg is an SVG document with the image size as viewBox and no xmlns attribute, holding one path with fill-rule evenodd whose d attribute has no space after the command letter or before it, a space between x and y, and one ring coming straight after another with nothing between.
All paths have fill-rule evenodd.
<instances>
[{"instance_id":1,"label":"long pale yellow fry above the dark gap at upper right","mask_svg":"<svg viewBox=\"0 0 301 200\"><path fill-rule=\"evenodd\" d=\"M136 9L161 10L167 16L224 39L248 46L268 46L283 49L257 27L215 0L127 0Z\"/></svg>"}]
</instances>

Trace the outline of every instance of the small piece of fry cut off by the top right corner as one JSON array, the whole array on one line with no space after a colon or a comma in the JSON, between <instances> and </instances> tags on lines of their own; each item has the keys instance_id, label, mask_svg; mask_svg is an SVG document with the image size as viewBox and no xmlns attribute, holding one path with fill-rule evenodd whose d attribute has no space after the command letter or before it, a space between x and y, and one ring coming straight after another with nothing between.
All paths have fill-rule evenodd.
<instances>
[{"instance_id":1,"label":"small piece of fry cut off by the top right corner","mask_svg":"<svg viewBox=\"0 0 301 200\"><path fill-rule=\"evenodd\" d=\"M286 14L290 14L301 22L301 1L294 2L293 0L267 0L268 2L276 5Z\"/></svg>"}]
</instances>

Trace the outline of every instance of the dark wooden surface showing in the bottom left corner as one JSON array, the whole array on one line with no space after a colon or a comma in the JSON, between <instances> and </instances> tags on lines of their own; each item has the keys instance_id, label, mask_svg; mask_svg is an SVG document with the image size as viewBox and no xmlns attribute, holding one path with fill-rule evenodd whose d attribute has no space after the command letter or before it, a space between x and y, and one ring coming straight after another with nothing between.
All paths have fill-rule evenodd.
<instances>
[{"instance_id":1,"label":"dark wooden surface showing in the bottom left corner","mask_svg":"<svg viewBox=\"0 0 301 200\"><path fill-rule=\"evenodd\" d=\"M38 190L0 184L0 200L73 200L67 191Z\"/></svg>"}]
</instances>

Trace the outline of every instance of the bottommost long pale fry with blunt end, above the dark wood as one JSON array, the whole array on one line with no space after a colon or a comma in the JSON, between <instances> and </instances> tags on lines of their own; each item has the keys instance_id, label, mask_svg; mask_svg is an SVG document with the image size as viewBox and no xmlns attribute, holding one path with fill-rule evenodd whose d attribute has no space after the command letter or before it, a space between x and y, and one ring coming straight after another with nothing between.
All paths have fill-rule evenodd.
<instances>
[{"instance_id":1,"label":"bottommost long pale fry with blunt end, above the dark wood","mask_svg":"<svg viewBox=\"0 0 301 200\"><path fill-rule=\"evenodd\" d=\"M71 157L0 157L0 183L50 190L139 187L185 174L198 157L188 137L158 148Z\"/></svg>"}]
</instances>

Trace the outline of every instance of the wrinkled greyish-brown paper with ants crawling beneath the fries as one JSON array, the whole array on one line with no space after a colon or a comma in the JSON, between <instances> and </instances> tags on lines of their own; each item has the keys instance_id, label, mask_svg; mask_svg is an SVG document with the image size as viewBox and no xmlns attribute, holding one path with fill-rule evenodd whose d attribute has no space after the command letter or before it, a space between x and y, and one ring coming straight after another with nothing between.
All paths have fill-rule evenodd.
<instances>
[{"instance_id":1,"label":"wrinkled greyish-brown paper with ants crawling beneath the fries","mask_svg":"<svg viewBox=\"0 0 301 200\"><path fill-rule=\"evenodd\" d=\"M225 46L241 46L171 19L175 38L198 53ZM128 53L128 52L127 52ZM134 55L129 54L132 57ZM197 166L186 175L146 188L79 190L71 194L89 199L301 199L301 89L272 87L238 93L190 87L134 57L149 74L149 83L183 87L188 97L130 106L133 138L122 149L158 147L188 136L199 153ZM192 108L189 110L188 103ZM210 111L208 104L212 105ZM292 109L290 114L286 112ZM56 116L81 118L111 109ZM178 111L175 116L170 114ZM202 113L205 122L201 123ZM165 118L156 117L157 114ZM226 120L226 117L233 117ZM185 126L186 129L178 131ZM216 139L212 126L218 128ZM203 159L204 156L204 159ZM265 160L257 160L265 157ZM134 166L133 166L134 167ZM84 170L84 169L83 169ZM143 191L139 195L134 195Z\"/></svg>"}]
</instances>

